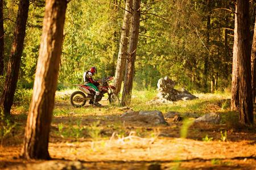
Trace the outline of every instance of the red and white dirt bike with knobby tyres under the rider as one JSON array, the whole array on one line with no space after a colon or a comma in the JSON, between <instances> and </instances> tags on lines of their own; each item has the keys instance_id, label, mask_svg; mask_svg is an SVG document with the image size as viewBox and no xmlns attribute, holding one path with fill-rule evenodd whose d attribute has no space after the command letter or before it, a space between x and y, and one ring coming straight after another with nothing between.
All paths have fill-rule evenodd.
<instances>
[{"instance_id":1,"label":"red and white dirt bike with knobby tyres under the rider","mask_svg":"<svg viewBox=\"0 0 256 170\"><path fill-rule=\"evenodd\" d=\"M102 79L102 82L97 86L98 90L100 91L100 95L97 97L97 101L101 101L104 94L108 93L108 100L110 104L119 105L120 101L117 96L113 92L115 87L109 84L109 81L113 80L113 77L108 76ZM93 91L93 88L88 85L81 85L81 84L73 84L78 86L80 91L75 91L71 94L69 101L73 107L83 107L87 100L89 100L89 104L93 104L94 95L96 94Z\"/></svg>"}]
</instances>

